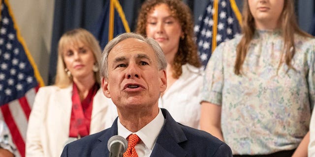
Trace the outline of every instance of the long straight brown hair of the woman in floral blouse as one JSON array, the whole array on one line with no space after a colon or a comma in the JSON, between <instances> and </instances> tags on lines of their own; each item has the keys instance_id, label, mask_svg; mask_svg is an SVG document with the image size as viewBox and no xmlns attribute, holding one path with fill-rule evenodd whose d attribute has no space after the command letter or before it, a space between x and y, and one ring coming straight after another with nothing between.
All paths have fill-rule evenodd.
<instances>
[{"instance_id":1,"label":"long straight brown hair of the woman in floral blouse","mask_svg":"<svg viewBox=\"0 0 315 157\"><path fill-rule=\"evenodd\" d=\"M243 25L242 33L243 37L236 48L236 60L234 66L234 73L236 75L241 75L242 65L245 61L247 51L250 46L250 42L255 32L255 21L250 11L248 0L244 0L243 4ZM312 37L308 33L302 31L296 21L296 16L294 13L294 2L293 0L284 0L284 8L279 18L281 20L281 30L284 39L284 53L285 54L285 64L289 69L294 69L291 64L291 60L295 53L294 47L294 34L300 34L305 37ZM278 70L282 62L279 63Z\"/></svg>"}]
</instances>

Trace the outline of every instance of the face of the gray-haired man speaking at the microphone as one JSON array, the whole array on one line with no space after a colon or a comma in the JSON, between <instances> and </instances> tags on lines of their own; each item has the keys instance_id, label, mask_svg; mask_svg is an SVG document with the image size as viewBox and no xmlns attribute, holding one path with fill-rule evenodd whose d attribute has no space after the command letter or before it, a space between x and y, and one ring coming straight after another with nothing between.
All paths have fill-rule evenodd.
<instances>
[{"instance_id":1,"label":"face of the gray-haired man speaking at the microphone","mask_svg":"<svg viewBox=\"0 0 315 157\"><path fill-rule=\"evenodd\" d=\"M158 70L157 56L147 43L127 38L109 52L102 88L117 107L158 105L159 94L166 89L166 72Z\"/></svg>"}]
</instances>

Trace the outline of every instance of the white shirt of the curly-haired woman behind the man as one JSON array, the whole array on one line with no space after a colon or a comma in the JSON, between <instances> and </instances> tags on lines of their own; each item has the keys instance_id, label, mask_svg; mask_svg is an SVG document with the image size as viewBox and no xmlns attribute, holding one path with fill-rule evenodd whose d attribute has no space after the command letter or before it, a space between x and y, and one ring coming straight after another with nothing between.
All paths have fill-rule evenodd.
<instances>
[{"instance_id":1,"label":"white shirt of the curly-haired woman behind the man","mask_svg":"<svg viewBox=\"0 0 315 157\"><path fill-rule=\"evenodd\" d=\"M158 100L174 120L183 125L199 129L201 87L203 70L190 64L182 66L182 75Z\"/></svg>"}]
</instances>

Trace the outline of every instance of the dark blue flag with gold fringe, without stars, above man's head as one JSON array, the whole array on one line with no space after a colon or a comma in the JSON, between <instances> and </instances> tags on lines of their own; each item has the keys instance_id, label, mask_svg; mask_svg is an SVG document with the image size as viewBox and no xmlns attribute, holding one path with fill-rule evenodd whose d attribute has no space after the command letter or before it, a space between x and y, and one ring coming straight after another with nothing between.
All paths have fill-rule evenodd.
<instances>
[{"instance_id":1,"label":"dark blue flag with gold fringe, without stars, above man's head","mask_svg":"<svg viewBox=\"0 0 315 157\"><path fill-rule=\"evenodd\" d=\"M105 9L91 32L99 41L101 50L115 36L130 32L124 11L118 0L106 1Z\"/></svg>"}]
</instances>

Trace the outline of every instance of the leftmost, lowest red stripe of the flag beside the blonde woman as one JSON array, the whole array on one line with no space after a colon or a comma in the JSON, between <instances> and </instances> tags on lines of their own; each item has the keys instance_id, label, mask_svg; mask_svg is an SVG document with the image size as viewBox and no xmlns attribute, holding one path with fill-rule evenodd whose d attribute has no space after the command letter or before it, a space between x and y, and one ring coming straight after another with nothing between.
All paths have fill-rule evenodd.
<instances>
[{"instance_id":1,"label":"leftmost, lowest red stripe of the flag beside the blonde woman","mask_svg":"<svg viewBox=\"0 0 315 157\"><path fill-rule=\"evenodd\" d=\"M13 119L13 116L11 115L10 109L8 104L1 106L1 112L4 117L4 121L7 124L11 134L12 134L12 140L16 145L17 150L21 155L25 155L25 142L24 139L15 124L15 121Z\"/></svg>"}]
</instances>

